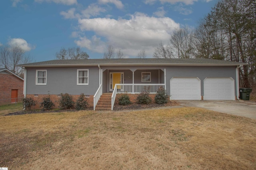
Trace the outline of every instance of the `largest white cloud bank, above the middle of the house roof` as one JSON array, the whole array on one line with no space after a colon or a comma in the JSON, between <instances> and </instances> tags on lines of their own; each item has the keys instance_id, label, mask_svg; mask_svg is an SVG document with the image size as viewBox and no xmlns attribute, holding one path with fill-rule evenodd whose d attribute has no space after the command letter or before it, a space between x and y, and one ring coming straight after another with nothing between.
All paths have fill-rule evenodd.
<instances>
[{"instance_id":1,"label":"largest white cloud bank, above the middle of the house roof","mask_svg":"<svg viewBox=\"0 0 256 170\"><path fill-rule=\"evenodd\" d=\"M171 32L179 27L171 18L150 17L142 13L131 15L129 20L92 18L79 19L78 23L82 32L95 32L96 36L106 39L108 44L121 48L124 55L136 56L141 49L145 49L149 57L152 57L154 48L161 41L167 43ZM96 36L92 40L83 37L75 42L81 47L102 51L100 48L105 48L107 44Z\"/></svg>"}]
</instances>

